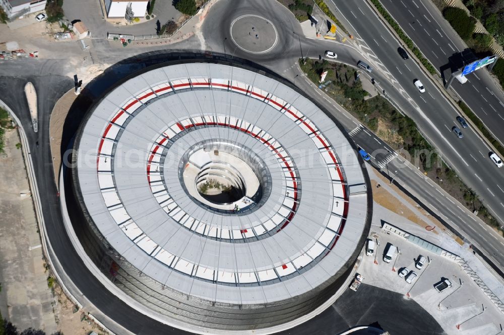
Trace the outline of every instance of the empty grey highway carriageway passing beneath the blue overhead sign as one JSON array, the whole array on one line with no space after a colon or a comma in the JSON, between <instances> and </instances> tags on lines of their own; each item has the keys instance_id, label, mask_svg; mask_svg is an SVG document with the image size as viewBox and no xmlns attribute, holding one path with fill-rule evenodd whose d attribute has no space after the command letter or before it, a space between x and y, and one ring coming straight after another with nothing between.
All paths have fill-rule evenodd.
<instances>
[{"instance_id":1,"label":"empty grey highway carriageway passing beneath the blue overhead sign","mask_svg":"<svg viewBox=\"0 0 504 335\"><path fill-rule=\"evenodd\" d=\"M463 51L463 40L443 18L439 10L427 0L386 0L383 6L415 42L425 57L449 78L451 70L442 71L449 57ZM485 68L467 75L464 85L457 80L452 88L484 122L485 126L504 143L504 93Z\"/></svg>"}]
</instances>

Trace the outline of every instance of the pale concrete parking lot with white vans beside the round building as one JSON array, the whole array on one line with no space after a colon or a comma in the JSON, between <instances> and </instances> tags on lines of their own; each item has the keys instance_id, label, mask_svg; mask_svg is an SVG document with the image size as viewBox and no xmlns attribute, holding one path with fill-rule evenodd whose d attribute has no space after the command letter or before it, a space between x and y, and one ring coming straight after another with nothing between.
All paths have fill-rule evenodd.
<instances>
[{"instance_id":1,"label":"pale concrete parking lot with white vans beside the round building","mask_svg":"<svg viewBox=\"0 0 504 335\"><path fill-rule=\"evenodd\" d=\"M458 265L443 256L436 255L395 233L388 233L373 226L380 245L374 255L365 256L357 270L364 276L363 283L377 286L413 299L432 315L448 334L498 334L504 317L490 299ZM376 241L376 238L373 238ZM383 260L388 244L397 246L390 263ZM426 262L421 270L415 261L422 255ZM402 268L418 275L411 284L398 276ZM449 279L452 287L437 292L434 284Z\"/></svg>"}]
</instances>

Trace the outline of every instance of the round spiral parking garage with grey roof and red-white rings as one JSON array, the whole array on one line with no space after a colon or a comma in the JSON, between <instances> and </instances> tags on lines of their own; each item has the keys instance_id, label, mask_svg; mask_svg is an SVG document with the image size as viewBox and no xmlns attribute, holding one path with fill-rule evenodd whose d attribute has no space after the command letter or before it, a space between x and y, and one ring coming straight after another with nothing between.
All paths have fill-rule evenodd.
<instances>
[{"instance_id":1,"label":"round spiral parking garage with grey roof and red-white rings","mask_svg":"<svg viewBox=\"0 0 504 335\"><path fill-rule=\"evenodd\" d=\"M113 250L95 262L175 326L305 315L341 287L367 236L367 175L348 138L250 69L141 73L95 105L75 146L83 217Z\"/></svg>"}]
</instances>

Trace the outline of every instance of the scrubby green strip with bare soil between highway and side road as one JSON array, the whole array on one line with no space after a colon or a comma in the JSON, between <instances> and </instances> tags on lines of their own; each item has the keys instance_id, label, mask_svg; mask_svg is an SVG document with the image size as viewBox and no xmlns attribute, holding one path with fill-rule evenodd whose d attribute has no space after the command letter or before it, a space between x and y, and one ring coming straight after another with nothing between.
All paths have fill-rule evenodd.
<instances>
[{"instance_id":1,"label":"scrubby green strip with bare soil between highway and side road","mask_svg":"<svg viewBox=\"0 0 504 335\"><path fill-rule=\"evenodd\" d=\"M466 208L471 211L478 210L478 217L502 234L498 222L488 213L477 194L440 159L434 147L422 136L411 118L403 116L380 95L364 100L369 94L362 89L361 81L355 79L354 68L345 64L329 63L327 60L313 59L306 59L306 64L300 59L299 66L316 85L321 85L320 74L327 70L323 88L326 94L380 138L398 149L399 153L406 159L409 158L411 163L419 166L424 175Z\"/></svg>"}]
</instances>

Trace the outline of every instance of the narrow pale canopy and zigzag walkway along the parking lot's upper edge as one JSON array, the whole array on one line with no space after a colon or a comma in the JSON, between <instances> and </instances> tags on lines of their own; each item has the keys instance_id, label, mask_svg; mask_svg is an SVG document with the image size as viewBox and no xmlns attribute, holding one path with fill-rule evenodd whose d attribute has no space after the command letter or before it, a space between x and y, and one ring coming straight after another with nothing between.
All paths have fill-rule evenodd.
<instances>
[{"instance_id":1,"label":"narrow pale canopy and zigzag walkway along the parking lot's upper edge","mask_svg":"<svg viewBox=\"0 0 504 335\"><path fill-rule=\"evenodd\" d=\"M423 247L425 249L427 249L427 248L424 245L429 245L429 244L440 249L441 252L439 255L452 261L452 262L457 263L462 268L462 270L476 283L476 285L478 285L478 287L481 289L481 291L483 291L483 293L488 297L488 299L490 299L490 301L495 305L495 307L497 307L497 309L501 313L504 313L504 303L492 292L492 290L490 290L488 288L488 286L486 286L486 284L483 282L483 280L478 276L478 274L473 269L471 269L471 267L466 263L466 261L462 257L460 257L454 253L451 253L448 250L443 249L442 247L439 247L433 243L430 243L429 241L427 241L423 238L420 238L418 236L410 234L407 231L404 231L401 228L398 228L388 222L384 221L382 229L389 231L389 232L392 232L392 233L395 233L401 237L406 238L407 240L410 240L410 237L415 237L415 239L418 239L418 240L421 240L424 242L424 243L418 244L418 245L420 245L421 247Z\"/></svg>"}]
</instances>

